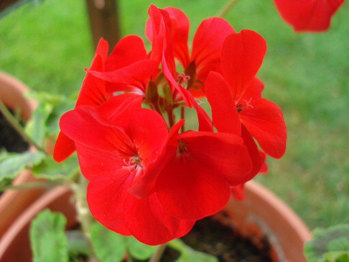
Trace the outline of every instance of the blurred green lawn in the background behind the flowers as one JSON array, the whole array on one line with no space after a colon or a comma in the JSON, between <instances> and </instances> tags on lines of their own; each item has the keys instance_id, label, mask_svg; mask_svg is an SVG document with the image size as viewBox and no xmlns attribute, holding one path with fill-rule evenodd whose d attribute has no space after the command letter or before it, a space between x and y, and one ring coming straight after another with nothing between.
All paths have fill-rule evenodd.
<instances>
[{"instance_id":1,"label":"blurred green lawn in the background behind the flowers","mask_svg":"<svg viewBox=\"0 0 349 262\"><path fill-rule=\"evenodd\" d=\"M166 2L166 4L165 4ZM119 0L122 34L144 37L150 3L182 9L192 37L199 22L223 6L217 0ZM349 223L349 2L325 33L296 34L272 1L240 0L225 18L236 31L256 30L268 51L258 76L278 104L288 147L269 158L257 180L285 200L313 229ZM77 92L94 50L83 0L24 4L0 19L0 70L34 90Z\"/></svg>"}]
</instances>

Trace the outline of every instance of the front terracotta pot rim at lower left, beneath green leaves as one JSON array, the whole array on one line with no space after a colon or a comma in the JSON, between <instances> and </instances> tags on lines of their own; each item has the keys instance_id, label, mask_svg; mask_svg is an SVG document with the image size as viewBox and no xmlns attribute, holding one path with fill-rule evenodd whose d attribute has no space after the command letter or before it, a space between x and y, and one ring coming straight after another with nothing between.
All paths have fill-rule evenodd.
<instances>
[{"instance_id":1,"label":"front terracotta pot rim at lower left, beneath green leaves","mask_svg":"<svg viewBox=\"0 0 349 262\"><path fill-rule=\"evenodd\" d=\"M45 208L61 212L67 218L67 229L76 226L72 192L57 186L31 204L8 228L0 240L0 262L30 262L29 227L31 220Z\"/></svg>"}]
</instances>

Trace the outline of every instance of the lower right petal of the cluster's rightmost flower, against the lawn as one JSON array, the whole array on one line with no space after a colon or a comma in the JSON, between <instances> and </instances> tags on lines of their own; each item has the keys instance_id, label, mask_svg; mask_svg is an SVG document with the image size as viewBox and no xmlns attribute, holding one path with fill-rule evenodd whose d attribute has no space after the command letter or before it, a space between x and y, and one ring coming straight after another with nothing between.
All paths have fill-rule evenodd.
<instances>
[{"instance_id":1,"label":"lower right petal of the cluster's rightmost flower, against the lawn","mask_svg":"<svg viewBox=\"0 0 349 262\"><path fill-rule=\"evenodd\" d=\"M246 126L265 153L280 158L286 150L286 125L281 109L273 102L261 98L239 113Z\"/></svg>"}]
</instances>

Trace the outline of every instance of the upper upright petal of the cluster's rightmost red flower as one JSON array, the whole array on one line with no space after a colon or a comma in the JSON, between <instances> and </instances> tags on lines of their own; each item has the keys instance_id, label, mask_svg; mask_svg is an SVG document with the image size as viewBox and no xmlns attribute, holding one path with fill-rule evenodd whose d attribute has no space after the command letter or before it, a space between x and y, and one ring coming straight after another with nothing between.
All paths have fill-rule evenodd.
<instances>
[{"instance_id":1,"label":"upper upright petal of the cluster's rightmost red flower","mask_svg":"<svg viewBox=\"0 0 349 262\"><path fill-rule=\"evenodd\" d=\"M228 35L222 46L221 66L234 101L239 101L262 64L267 45L252 30Z\"/></svg>"}]
</instances>

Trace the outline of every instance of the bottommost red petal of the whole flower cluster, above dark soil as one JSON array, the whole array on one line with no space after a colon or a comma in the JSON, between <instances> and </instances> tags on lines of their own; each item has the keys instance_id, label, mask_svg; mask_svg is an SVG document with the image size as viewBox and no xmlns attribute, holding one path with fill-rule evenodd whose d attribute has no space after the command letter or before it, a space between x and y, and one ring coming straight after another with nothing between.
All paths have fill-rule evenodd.
<instances>
[{"instance_id":1,"label":"bottommost red petal of the whole flower cluster, above dark soil","mask_svg":"<svg viewBox=\"0 0 349 262\"><path fill-rule=\"evenodd\" d=\"M129 194L123 207L123 218L131 234L147 245L160 245L180 238L195 223L169 214L155 193L141 200Z\"/></svg>"}]
</instances>

